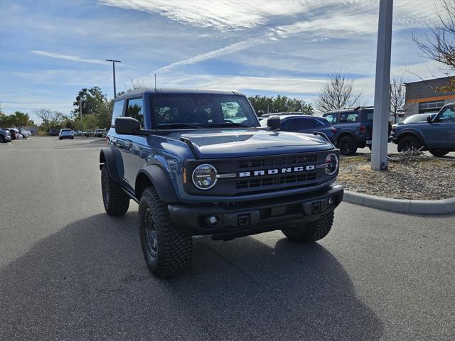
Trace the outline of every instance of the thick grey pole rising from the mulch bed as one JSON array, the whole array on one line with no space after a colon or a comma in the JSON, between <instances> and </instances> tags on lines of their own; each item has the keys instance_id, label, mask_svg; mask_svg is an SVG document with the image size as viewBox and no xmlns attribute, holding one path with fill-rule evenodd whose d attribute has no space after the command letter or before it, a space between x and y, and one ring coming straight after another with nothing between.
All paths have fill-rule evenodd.
<instances>
[{"instance_id":1,"label":"thick grey pole rising from the mulch bed","mask_svg":"<svg viewBox=\"0 0 455 341\"><path fill-rule=\"evenodd\" d=\"M387 170L387 138L390 116L390 48L393 0L380 0L378 50L376 52L375 109L371 169Z\"/></svg>"}]
</instances>

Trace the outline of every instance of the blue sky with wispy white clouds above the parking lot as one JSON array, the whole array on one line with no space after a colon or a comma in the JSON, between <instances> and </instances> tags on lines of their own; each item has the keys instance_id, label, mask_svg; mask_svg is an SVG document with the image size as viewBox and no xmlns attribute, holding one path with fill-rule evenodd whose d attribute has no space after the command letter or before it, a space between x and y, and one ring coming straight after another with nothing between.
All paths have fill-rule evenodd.
<instances>
[{"instance_id":1,"label":"blue sky with wispy white clouds above the parking lot","mask_svg":"<svg viewBox=\"0 0 455 341\"><path fill-rule=\"evenodd\" d=\"M326 75L355 79L373 103L378 1L0 1L0 106L68 114L78 90L112 97L130 80L236 89L314 102ZM439 76L412 42L436 20L432 0L395 0L392 75ZM416 74L416 75L414 75Z\"/></svg>"}]
</instances>

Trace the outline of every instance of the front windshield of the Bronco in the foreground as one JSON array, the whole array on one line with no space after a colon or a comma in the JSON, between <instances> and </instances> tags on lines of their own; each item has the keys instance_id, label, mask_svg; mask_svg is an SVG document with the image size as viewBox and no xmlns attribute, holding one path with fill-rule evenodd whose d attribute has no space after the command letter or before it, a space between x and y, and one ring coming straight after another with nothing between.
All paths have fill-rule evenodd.
<instances>
[{"instance_id":1,"label":"front windshield of the Bronco in the foreground","mask_svg":"<svg viewBox=\"0 0 455 341\"><path fill-rule=\"evenodd\" d=\"M164 94L152 99L158 128L258 126L255 112L243 96L226 94Z\"/></svg>"}]
</instances>

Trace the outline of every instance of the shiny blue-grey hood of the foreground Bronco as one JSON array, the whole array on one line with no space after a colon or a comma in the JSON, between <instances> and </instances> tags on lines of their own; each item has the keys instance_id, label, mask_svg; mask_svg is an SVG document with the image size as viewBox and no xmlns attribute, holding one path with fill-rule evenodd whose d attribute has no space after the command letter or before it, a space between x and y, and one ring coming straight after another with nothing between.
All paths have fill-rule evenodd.
<instances>
[{"instance_id":1,"label":"shiny blue-grey hood of the foreground Bronco","mask_svg":"<svg viewBox=\"0 0 455 341\"><path fill-rule=\"evenodd\" d=\"M198 129L179 131L168 137L188 139L200 158L308 153L334 148L321 136L262 129Z\"/></svg>"}]
</instances>

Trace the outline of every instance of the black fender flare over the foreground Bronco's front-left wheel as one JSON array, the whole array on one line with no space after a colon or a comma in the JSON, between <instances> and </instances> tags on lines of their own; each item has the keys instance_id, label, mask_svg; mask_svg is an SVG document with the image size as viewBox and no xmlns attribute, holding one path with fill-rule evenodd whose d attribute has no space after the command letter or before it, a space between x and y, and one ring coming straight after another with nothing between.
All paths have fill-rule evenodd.
<instances>
[{"instance_id":1,"label":"black fender flare over the foreground Bronco's front-left wheel","mask_svg":"<svg viewBox=\"0 0 455 341\"><path fill-rule=\"evenodd\" d=\"M161 166L150 165L139 170L136 177L136 184L134 185L137 200L141 200L142 192L150 185L155 188L160 199L164 202L181 201L176 195L171 179Z\"/></svg>"}]
</instances>

